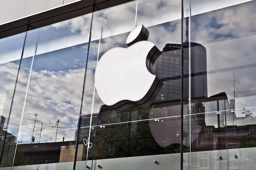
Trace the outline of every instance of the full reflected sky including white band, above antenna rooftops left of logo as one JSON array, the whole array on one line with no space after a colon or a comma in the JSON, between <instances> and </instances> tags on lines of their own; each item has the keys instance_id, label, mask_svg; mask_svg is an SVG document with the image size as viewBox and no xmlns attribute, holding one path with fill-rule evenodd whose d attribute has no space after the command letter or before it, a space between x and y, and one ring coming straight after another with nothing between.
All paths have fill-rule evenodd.
<instances>
[{"instance_id":1,"label":"full reflected sky including white band, above antenna rooftops left of logo","mask_svg":"<svg viewBox=\"0 0 256 170\"><path fill-rule=\"evenodd\" d=\"M20 122L19 112L23 112L18 139L26 135L27 141L23 139L23 144L30 143L32 135L35 136L35 142L38 141L40 135L39 129L34 129L32 134L33 115L27 113L37 114L37 123L40 121L44 124L40 142L55 141L56 130L52 129L49 122L54 123L58 119L59 126L65 129L58 133L57 141L62 141L63 136L66 141L75 140L91 16L87 14L27 33L15 96L15 101L20 102L15 102L10 122L10 130L18 131L15 122ZM33 55L35 58L32 60ZM27 82L29 85L26 90ZM26 98L21 97L25 94Z\"/></svg>"}]
</instances>

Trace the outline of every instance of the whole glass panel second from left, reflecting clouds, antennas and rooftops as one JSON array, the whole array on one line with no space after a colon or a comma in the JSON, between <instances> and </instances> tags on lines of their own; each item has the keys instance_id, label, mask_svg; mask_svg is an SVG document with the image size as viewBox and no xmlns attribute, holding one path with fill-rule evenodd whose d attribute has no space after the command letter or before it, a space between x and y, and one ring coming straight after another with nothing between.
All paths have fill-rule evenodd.
<instances>
[{"instance_id":1,"label":"whole glass panel second from left, reflecting clouds, antennas and rooftops","mask_svg":"<svg viewBox=\"0 0 256 170\"><path fill-rule=\"evenodd\" d=\"M27 32L10 119L19 135L6 167L74 161L91 16Z\"/></svg>"}]
</instances>

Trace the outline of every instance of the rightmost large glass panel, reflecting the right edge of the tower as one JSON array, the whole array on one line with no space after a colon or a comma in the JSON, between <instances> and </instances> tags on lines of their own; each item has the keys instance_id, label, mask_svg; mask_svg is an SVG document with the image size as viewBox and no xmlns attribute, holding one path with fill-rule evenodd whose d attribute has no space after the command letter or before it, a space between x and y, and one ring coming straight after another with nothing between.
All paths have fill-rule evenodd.
<instances>
[{"instance_id":1,"label":"rightmost large glass panel, reflecting the right edge of the tower","mask_svg":"<svg viewBox=\"0 0 256 170\"><path fill-rule=\"evenodd\" d=\"M255 163L250 151L256 146L252 142L256 126L253 115L256 3L225 0L213 4L204 0L191 1L186 6L188 42L193 42L188 48L191 67L188 169L251 169Z\"/></svg>"}]
</instances>

